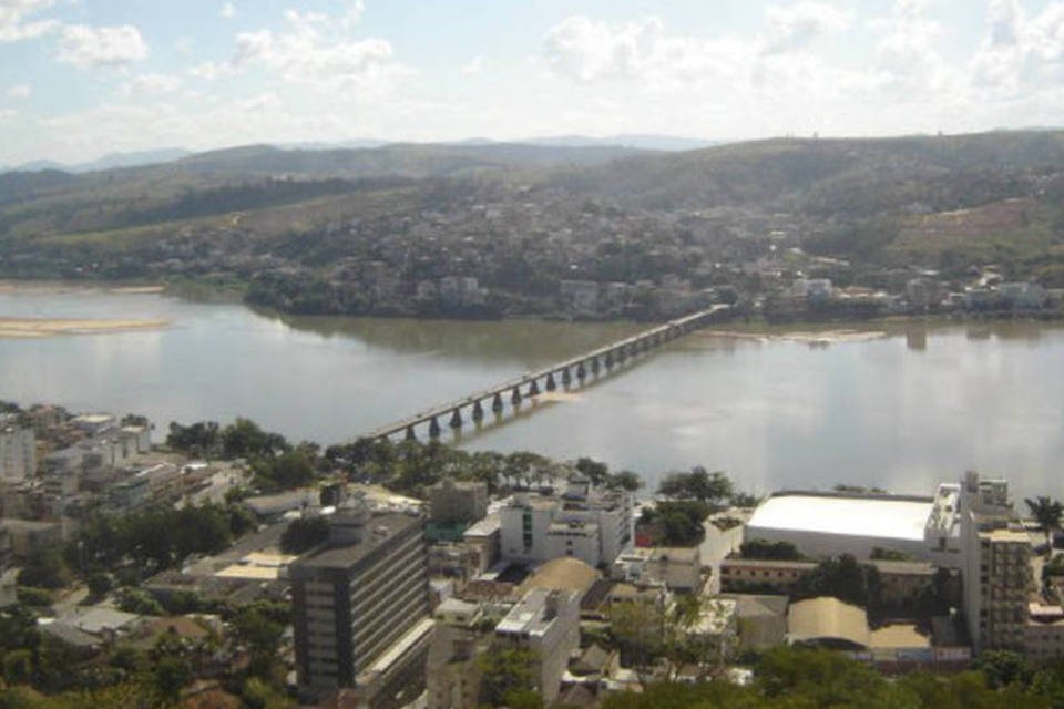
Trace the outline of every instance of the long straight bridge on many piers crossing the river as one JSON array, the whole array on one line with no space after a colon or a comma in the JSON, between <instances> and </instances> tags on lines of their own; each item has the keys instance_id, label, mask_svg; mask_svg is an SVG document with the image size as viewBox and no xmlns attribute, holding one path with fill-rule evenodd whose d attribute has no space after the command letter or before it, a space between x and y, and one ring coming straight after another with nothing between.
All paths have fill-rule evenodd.
<instances>
[{"instance_id":1,"label":"long straight bridge on many piers crossing the river","mask_svg":"<svg viewBox=\"0 0 1064 709\"><path fill-rule=\"evenodd\" d=\"M417 438L416 429L428 424L429 438L439 438L442 432L440 420L446 420L451 429L461 429L466 423L462 412L469 410L469 418L479 423L484 418L485 408L494 413L501 413L505 408L504 398L509 398L513 407L519 407L525 398L538 397L542 391L554 391L559 383L569 388L573 379L583 383L589 372L597 376L603 369L606 371L615 366L624 364L626 360L654 348L661 347L671 340L696 330L718 319L723 312L729 310L726 305L716 305L705 310L669 320L623 340L611 342L604 347L584 352L577 357L552 364L534 372L525 372L509 381L495 384L469 397L449 401L444 404L421 411L412 417L382 425L361 438L387 439L396 433L403 433L408 439ZM541 387L542 382L542 387Z\"/></svg>"}]
</instances>

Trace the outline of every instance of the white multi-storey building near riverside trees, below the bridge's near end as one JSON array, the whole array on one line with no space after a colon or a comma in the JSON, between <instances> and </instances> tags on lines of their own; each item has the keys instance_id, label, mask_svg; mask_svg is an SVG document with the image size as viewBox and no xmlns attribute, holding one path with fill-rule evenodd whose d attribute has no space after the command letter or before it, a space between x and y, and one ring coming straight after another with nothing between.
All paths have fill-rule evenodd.
<instances>
[{"instance_id":1,"label":"white multi-storey building near riverside trees, below the bridge's near end","mask_svg":"<svg viewBox=\"0 0 1064 709\"><path fill-rule=\"evenodd\" d=\"M634 538L632 495L597 490L573 475L561 494L516 493L500 510L501 553L512 562L572 556L589 566L613 564Z\"/></svg>"}]
</instances>

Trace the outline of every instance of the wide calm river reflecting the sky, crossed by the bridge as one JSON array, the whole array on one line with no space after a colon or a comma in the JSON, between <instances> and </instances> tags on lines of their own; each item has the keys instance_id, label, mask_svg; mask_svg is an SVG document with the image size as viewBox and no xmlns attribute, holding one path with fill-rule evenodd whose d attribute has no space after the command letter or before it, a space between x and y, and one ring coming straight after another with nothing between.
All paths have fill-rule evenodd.
<instances>
[{"instance_id":1,"label":"wide calm river reflecting the sky, crossed by the bridge","mask_svg":"<svg viewBox=\"0 0 1064 709\"><path fill-rule=\"evenodd\" d=\"M246 415L332 443L640 329L632 323L290 318L155 294L18 288L0 318L163 318L117 333L0 339L0 399L170 421ZM839 329L836 326L836 329ZM855 326L860 336L702 331L525 404L469 449L591 455L644 475L705 465L740 487L928 493L965 470L1064 496L1064 328ZM509 408L509 407L508 407ZM444 422L441 422L444 423ZM444 427L446 428L446 427ZM453 440L448 430L446 440Z\"/></svg>"}]
</instances>

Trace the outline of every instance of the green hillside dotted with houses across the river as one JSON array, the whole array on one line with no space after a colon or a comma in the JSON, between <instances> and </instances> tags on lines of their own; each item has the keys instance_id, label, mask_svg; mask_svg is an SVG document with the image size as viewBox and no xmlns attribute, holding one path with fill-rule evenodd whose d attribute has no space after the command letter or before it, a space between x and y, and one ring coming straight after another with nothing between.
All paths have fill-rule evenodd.
<instances>
[{"instance_id":1,"label":"green hillside dotted with houses across the river","mask_svg":"<svg viewBox=\"0 0 1064 709\"><path fill-rule=\"evenodd\" d=\"M993 264L1007 279L1064 286L1064 133L681 153L245 146L82 175L0 174L0 276L307 282L309 311L421 312L447 277L487 287L474 310L489 316L549 312L564 279L673 277L757 294L767 286L744 264L777 249L835 259L843 266L790 261L842 285ZM661 310L642 297L618 307Z\"/></svg>"}]
</instances>

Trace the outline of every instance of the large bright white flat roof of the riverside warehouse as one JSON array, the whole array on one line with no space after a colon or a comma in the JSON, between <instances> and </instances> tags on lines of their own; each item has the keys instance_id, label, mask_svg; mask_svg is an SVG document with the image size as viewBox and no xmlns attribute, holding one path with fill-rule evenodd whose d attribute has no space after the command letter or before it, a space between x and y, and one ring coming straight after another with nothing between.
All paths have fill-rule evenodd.
<instances>
[{"instance_id":1,"label":"large bright white flat roof of the riverside warehouse","mask_svg":"<svg viewBox=\"0 0 1064 709\"><path fill-rule=\"evenodd\" d=\"M748 536L756 536L756 530L781 530L922 541L931 504L930 500L779 495L758 506L747 530Z\"/></svg>"}]
</instances>

